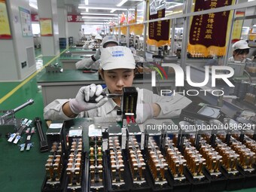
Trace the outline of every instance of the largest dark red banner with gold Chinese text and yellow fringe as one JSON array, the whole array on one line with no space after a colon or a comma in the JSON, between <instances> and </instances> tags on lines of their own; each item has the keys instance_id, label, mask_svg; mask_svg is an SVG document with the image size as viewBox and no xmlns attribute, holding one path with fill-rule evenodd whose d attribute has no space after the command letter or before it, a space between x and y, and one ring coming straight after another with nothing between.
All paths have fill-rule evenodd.
<instances>
[{"instance_id":1,"label":"largest dark red banner with gold Chinese text and yellow fringe","mask_svg":"<svg viewBox=\"0 0 256 192\"><path fill-rule=\"evenodd\" d=\"M203 11L232 5L233 0L197 0L194 11ZM224 56L230 11L194 16L190 25L187 51L192 55Z\"/></svg>"}]
</instances>

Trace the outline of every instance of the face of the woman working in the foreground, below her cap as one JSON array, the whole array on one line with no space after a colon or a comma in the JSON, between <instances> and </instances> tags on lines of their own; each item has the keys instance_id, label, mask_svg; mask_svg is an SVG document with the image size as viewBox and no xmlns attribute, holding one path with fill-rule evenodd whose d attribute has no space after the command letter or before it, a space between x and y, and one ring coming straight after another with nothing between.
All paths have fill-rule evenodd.
<instances>
[{"instance_id":1,"label":"face of the woman working in the foreground, below her cap","mask_svg":"<svg viewBox=\"0 0 256 192\"><path fill-rule=\"evenodd\" d=\"M133 86L133 69L105 70L101 74L110 93L123 93L123 87Z\"/></svg>"}]
</instances>

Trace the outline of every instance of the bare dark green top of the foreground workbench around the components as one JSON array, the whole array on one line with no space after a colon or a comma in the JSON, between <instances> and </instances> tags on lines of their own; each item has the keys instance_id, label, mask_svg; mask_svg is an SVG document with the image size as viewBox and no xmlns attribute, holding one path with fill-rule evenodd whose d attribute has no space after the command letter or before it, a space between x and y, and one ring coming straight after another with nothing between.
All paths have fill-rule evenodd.
<instances>
[{"instance_id":1,"label":"bare dark green top of the foreground workbench around the components","mask_svg":"<svg viewBox=\"0 0 256 192\"><path fill-rule=\"evenodd\" d=\"M173 120L175 121L175 120ZM64 128L69 129L70 126L83 126L84 150L88 146L88 126L91 123L99 123L102 127L108 127L109 123L113 123L114 119L109 118L104 122L102 120L93 120L92 118L79 118L68 120ZM43 130L46 133L46 124L43 122ZM1 130L1 133L8 133L10 130ZM2 136L0 139L0 184L3 192L39 192L44 181L45 163L50 152L41 153L39 151L38 133L32 136L34 146L30 151L20 152L17 145L10 143ZM248 188L242 190L233 190L233 192L254 192L256 188Z\"/></svg>"}]
</instances>

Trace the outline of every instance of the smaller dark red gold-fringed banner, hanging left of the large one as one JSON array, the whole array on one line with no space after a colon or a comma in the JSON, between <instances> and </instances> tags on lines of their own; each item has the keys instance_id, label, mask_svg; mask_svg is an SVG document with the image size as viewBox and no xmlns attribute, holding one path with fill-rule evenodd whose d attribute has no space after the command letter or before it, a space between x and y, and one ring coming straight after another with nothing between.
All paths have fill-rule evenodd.
<instances>
[{"instance_id":1,"label":"smaller dark red gold-fringed banner, hanging left of the large one","mask_svg":"<svg viewBox=\"0 0 256 192\"><path fill-rule=\"evenodd\" d=\"M149 15L149 20L165 17L166 9L157 11L157 14ZM170 44L169 40L169 20L156 21L148 24L148 40L149 45L157 47Z\"/></svg>"}]
</instances>

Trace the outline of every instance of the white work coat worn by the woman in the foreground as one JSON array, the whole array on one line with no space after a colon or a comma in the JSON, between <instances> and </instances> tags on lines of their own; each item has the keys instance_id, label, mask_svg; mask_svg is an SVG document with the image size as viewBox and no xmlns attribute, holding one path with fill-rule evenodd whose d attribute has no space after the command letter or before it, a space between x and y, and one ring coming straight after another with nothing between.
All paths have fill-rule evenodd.
<instances>
[{"instance_id":1,"label":"white work coat worn by the woman in the foreground","mask_svg":"<svg viewBox=\"0 0 256 192\"><path fill-rule=\"evenodd\" d=\"M108 93L106 88L103 91ZM70 120L71 118L62 111L62 105L68 101L69 99L56 99L47 105L44 108L44 120ZM178 117L181 114L181 109L190 102L190 99L178 94L175 96L158 96L150 90L139 89L138 91L137 104L157 103L161 108L160 114L157 116L160 118ZM78 117L116 117L119 108L113 99L108 99L108 102L101 107L81 112Z\"/></svg>"}]
</instances>

